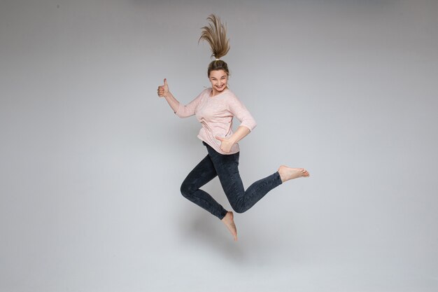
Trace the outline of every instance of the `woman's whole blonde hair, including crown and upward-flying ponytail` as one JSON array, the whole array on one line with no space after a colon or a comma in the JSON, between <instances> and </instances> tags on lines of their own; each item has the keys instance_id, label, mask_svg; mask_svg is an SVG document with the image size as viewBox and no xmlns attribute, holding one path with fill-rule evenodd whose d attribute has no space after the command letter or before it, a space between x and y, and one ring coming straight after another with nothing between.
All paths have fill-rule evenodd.
<instances>
[{"instance_id":1,"label":"woman's whole blonde hair, including crown and upward-flying ponytail","mask_svg":"<svg viewBox=\"0 0 438 292\"><path fill-rule=\"evenodd\" d=\"M219 60L221 57L227 55L229 51L229 39L227 39L227 27L220 22L220 18L214 14L209 15L207 18L211 23L209 26L202 27L201 37L199 41L207 41L211 48L211 57L215 57L216 60L209 64L207 75L210 76L210 72L213 70L224 70L229 75L228 65L226 62Z\"/></svg>"}]
</instances>

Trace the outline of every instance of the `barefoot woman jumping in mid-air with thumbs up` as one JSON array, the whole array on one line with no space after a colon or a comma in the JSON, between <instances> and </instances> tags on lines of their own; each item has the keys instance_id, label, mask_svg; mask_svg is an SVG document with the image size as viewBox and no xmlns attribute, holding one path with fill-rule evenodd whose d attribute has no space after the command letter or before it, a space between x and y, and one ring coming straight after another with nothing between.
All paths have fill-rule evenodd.
<instances>
[{"instance_id":1,"label":"barefoot woman jumping in mid-air with thumbs up","mask_svg":"<svg viewBox=\"0 0 438 292\"><path fill-rule=\"evenodd\" d=\"M303 168L281 165L274 174L255 181L247 190L243 188L238 169L239 144L237 142L246 137L254 129L256 123L246 107L227 87L228 66L220 60L220 57L225 56L229 51L226 28L216 15L210 15L207 20L211 23L209 27L202 27L199 41L208 41L211 46L211 56L216 58L209 64L207 70L211 88L203 90L185 106L171 94L167 79L164 79L164 85L158 87L157 93L159 97L166 99L176 116L186 118L196 115L202 124L197 137L206 146L208 154L185 178L181 185L181 193L188 200L218 217L232 233L234 240L237 240L232 211L225 210L211 195L199 189L200 187L218 176L234 211L243 213L253 207L269 190L290 179L309 176L309 172ZM232 128L234 116L241 122L236 132L233 132Z\"/></svg>"}]
</instances>

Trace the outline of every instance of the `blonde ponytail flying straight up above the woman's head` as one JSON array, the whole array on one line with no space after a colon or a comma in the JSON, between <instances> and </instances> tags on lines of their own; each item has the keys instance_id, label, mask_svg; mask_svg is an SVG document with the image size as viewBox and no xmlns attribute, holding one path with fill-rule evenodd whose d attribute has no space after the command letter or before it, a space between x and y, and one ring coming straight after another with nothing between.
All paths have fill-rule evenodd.
<instances>
[{"instance_id":1,"label":"blonde ponytail flying straight up above the woman's head","mask_svg":"<svg viewBox=\"0 0 438 292\"><path fill-rule=\"evenodd\" d=\"M211 23L209 26L202 27L201 37L199 41L204 40L210 44L211 57L220 59L227 55L229 51L229 39L227 39L227 27L220 22L220 18L214 14L207 18Z\"/></svg>"}]
</instances>

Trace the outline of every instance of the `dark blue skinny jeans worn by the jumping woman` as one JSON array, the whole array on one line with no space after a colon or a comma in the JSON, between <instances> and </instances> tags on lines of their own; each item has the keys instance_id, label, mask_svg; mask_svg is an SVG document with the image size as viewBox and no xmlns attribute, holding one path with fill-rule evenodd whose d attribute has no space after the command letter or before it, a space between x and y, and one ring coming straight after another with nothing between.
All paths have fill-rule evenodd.
<instances>
[{"instance_id":1,"label":"dark blue skinny jeans worn by the jumping woman","mask_svg":"<svg viewBox=\"0 0 438 292\"><path fill-rule=\"evenodd\" d=\"M220 184L225 195L227 195L228 202L237 213L247 211L264 197L269 190L281 185L280 174L274 172L274 174L264 179L255 181L245 190L238 169L239 152L224 155L215 151L204 141L202 141L202 144L206 146L209 154L185 178L181 185L181 193L188 200L206 209L214 216L222 219L227 214L227 210L216 202L209 193L199 188L216 176L219 176Z\"/></svg>"}]
</instances>

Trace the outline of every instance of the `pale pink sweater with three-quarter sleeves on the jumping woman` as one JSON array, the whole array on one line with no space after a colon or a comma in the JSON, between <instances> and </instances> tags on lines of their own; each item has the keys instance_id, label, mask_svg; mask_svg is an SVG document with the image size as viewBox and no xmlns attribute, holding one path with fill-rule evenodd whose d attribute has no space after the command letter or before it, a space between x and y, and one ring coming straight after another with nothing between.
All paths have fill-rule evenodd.
<instances>
[{"instance_id":1,"label":"pale pink sweater with three-quarter sleeves on the jumping woman","mask_svg":"<svg viewBox=\"0 0 438 292\"><path fill-rule=\"evenodd\" d=\"M212 88L206 88L195 97L189 104L179 104L176 116L187 118L196 115L202 124L198 138L209 144L221 154L233 154L240 151L239 144L232 146L231 151L226 153L220 150L220 141L215 137L230 137L233 134L233 117L239 119L241 126L248 127L250 131L257 125L253 116L246 107L237 99L236 95L225 88L219 95L210 97Z\"/></svg>"}]
</instances>

